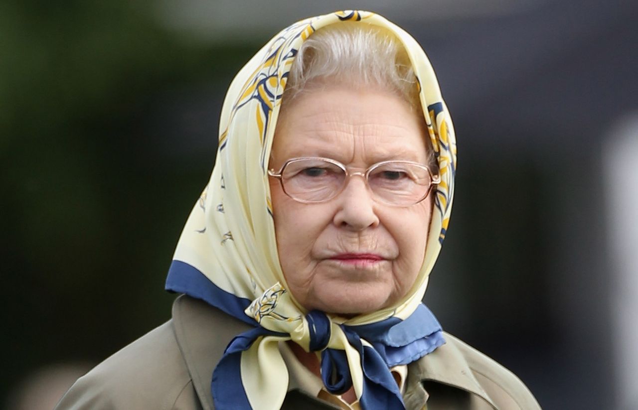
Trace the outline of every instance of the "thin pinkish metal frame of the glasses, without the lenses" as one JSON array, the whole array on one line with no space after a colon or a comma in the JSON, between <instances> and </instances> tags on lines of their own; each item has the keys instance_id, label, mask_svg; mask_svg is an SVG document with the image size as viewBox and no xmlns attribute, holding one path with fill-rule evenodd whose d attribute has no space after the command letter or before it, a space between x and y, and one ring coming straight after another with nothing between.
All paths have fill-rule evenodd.
<instances>
[{"instance_id":1,"label":"thin pinkish metal frame of the glasses, without the lenses","mask_svg":"<svg viewBox=\"0 0 638 410\"><path fill-rule=\"evenodd\" d=\"M306 201L306 200L301 200L299 198L295 198L294 196L292 196L290 193L288 193L286 191L286 187L283 184L283 172L286 169L286 166L295 163L295 162L299 162L299 161L308 161L308 160L315 160L315 161L326 161L328 163L331 163L332 165L336 165L339 168L341 168L341 170L343 170L343 172L345 173L346 177L345 177L345 181L343 183L343 186L341 186L341 189L339 189L339 191L336 191L332 196L330 196L327 199L324 200L320 200L320 201ZM392 202L388 202L383 200L383 198L381 198L380 196L378 196L377 194L375 194L375 191L372 190L372 188L369 186L367 179L368 176L370 175L371 172L373 172L376 168L383 166L383 165L387 165L387 164L410 164L410 165L415 165L418 166L419 168L422 168L423 170L426 170L427 173L430 175L430 186L427 187L427 191L426 193L419 198L419 200L415 201L414 203L410 203L408 205L401 205L401 204L396 204L396 203L392 203ZM331 158L325 158L325 157L298 157L298 158L291 158L288 159L288 161L286 161L281 168L279 168L279 171L275 171L274 169L269 169L268 170L268 175L276 178L279 180L279 184L281 184L281 190L290 198L292 198L293 200L300 202L300 203L323 203L323 202L327 202L330 201L334 198L336 198L337 196L339 196L339 194L341 194L343 192L343 190L346 188L346 186L348 186L348 183L350 182L350 178L355 176L355 175L359 175L360 177L363 178L364 183L366 184L367 189L370 191L370 193L372 193L372 197L375 199L375 201L378 201L380 203L383 203L385 205L389 205L391 207L411 207L412 205L417 205L417 203L423 201L424 199L427 198L427 196L432 192L432 189L434 186L438 185L441 183L441 175L434 174L432 173L432 171L430 170L429 166L427 165L423 165L414 161L403 161L403 160L394 160L391 159L389 161L381 161L380 163L376 163L373 164L371 166L369 166L367 168L367 170L365 172L349 172L348 168L343 165L342 163L340 163L339 161L336 161L334 159Z\"/></svg>"}]
</instances>

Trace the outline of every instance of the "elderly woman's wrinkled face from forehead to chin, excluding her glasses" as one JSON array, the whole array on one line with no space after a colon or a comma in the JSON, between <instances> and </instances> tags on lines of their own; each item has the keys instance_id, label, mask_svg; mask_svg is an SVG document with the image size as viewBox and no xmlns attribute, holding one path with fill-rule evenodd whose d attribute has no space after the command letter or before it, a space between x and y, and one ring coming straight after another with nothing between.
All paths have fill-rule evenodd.
<instances>
[{"instance_id":1,"label":"elderly woman's wrinkled face from forehead to chin, excluding her glasses","mask_svg":"<svg viewBox=\"0 0 638 410\"><path fill-rule=\"evenodd\" d=\"M332 87L297 96L279 116L270 168L328 157L352 172L390 159L427 163L425 124L399 96ZM410 207L373 200L362 177L324 203L300 203L270 179L279 261L306 309L361 314L396 303L422 265L430 198Z\"/></svg>"}]
</instances>

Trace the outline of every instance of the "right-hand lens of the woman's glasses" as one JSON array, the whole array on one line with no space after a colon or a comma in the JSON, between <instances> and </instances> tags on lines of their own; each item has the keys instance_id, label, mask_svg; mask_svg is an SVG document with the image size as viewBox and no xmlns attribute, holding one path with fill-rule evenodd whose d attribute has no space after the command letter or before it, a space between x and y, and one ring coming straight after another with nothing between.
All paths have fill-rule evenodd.
<instances>
[{"instance_id":1,"label":"right-hand lens of the woman's glasses","mask_svg":"<svg viewBox=\"0 0 638 410\"><path fill-rule=\"evenodd\" d=\"M370 170L367 183L373 193L392 205L412 205L422 200L432 183L427 168L400 161Z\"/></svg>"}]
</instances>

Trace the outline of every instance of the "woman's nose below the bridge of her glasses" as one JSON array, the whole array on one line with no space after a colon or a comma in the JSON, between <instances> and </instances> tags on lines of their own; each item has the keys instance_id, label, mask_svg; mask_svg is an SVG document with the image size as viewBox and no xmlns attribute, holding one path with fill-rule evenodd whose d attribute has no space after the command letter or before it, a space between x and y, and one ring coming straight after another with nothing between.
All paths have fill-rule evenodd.
<instances>
[{"instance_id":1,"label":"woman's nose below the bridge of her glasses","mask_svg":"<svg viewBox=\"0 0 638 410\"><path fill-rule=\"evenodd\" d=\"M366 185L364 175L352 175L338 198L339 209L333 222L340 228L361 231L379 224L376 203Z\"/></svg>"}]
</instances>

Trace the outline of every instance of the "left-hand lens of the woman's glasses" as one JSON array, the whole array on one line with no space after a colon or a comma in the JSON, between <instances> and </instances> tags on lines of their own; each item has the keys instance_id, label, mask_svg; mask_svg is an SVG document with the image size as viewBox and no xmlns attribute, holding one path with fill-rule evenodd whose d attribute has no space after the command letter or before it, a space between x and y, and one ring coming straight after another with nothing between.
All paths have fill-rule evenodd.
<instances>
[{"instance_id":1,"label":"left-hand lens of the woman's glasses","mask_svg":"<svg viewBox=\"0 0 638 410\"><path fill-rule=\"evenodd\" d=\"M281 172L286 194L304 202L322 202L341 190L345 171L322 159L295 159Z\"/></svg>"}]
</instances>

